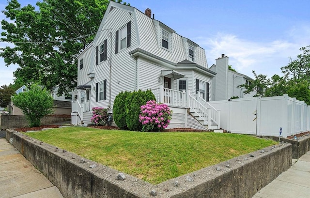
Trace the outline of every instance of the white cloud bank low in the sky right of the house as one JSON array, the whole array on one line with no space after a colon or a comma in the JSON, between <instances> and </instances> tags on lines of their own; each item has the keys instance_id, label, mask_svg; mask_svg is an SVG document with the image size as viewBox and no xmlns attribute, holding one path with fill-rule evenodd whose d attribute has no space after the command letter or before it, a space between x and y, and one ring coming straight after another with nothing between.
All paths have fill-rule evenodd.
<instances>
[{"instance_id":1,"label":"white cloud bank low in the sky right of the house","mask_svg":"<svg viewBox=\"0 0 310 198\"><path fill-rule=\"evenodd\" d=\"M261 42L255 39L245 40L237 35L218 32L211 38L196 38L205 49L208 65L215 64L215 59L225 54L229 64L239 73L254 77L257 74L271 77L282 76L280 67L289 62L289 57L296 59L301 53L299 48L310 44L310 28L308 26L292 27L283 38L275 41Z\"/></svg>"}]
</instances>

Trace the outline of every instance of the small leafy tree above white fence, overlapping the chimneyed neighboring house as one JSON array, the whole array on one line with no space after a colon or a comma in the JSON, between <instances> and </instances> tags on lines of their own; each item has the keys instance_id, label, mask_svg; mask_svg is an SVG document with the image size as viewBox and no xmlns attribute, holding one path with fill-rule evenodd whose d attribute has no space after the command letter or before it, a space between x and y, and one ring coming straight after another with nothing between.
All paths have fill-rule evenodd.
<instances>
[{"instance_id":1,"label":"small leafy tree above white fence, overlapping the chimneyed neighboring house","mask_svg":"<svg viewBox=\"0 0 310 198\"><path fill-rule=\"evenodd\" d=\"M264 94L265 94L265 89L268 88L269 86L269 82L268 80L266 79L266 75L257 75L255 73L255 71L252 71L252 73L254 74L255 76L255 80L249 84L242 84L242 85L239 85L237 86L237 88L245 88L245 91L243 91L245 94L248 94L252 91L256 92L256 95L255 96L262 96L264 97Z\"/></svg>"}]
</instances>

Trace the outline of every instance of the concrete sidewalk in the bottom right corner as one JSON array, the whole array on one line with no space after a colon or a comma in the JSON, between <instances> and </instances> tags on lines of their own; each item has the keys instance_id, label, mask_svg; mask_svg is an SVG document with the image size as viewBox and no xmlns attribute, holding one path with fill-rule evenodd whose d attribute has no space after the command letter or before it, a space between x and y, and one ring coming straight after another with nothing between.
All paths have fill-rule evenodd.
<instances>
[{"instance_id":1,"label":"concrete sidewalk in the bottom right corner","mask_svg":"<svg viewBox=\"0 0 310 198\"><path fill-rule=\"evenodd\" d=\"M310 198L310 151L292 164L253 198Z\"/></svg>"}]
</instances>

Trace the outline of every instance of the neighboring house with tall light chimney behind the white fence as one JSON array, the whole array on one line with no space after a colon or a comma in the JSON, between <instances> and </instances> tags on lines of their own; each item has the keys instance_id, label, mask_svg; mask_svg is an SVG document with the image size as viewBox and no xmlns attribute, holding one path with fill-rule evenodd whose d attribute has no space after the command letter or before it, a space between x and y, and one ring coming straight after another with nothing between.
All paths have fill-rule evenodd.
<instances>
[{"instance_id":1,"label":"neighboring house with tall light chimney behind the white fence","mask_svg":"<svg viewBox=\"0 0 310 198\"><path fill-rule=\"evenodd\" d=\"M248 98L256 95L255 92L245 94L245 88L237 88L242 84L249 84L254 79L234 72L228 69L228 57L222 54L222 57L216 59L216 64L210 67L210 70L217 73L212 79L212 101L227 100L232 97Z\"/></svg>"}]
</instances>

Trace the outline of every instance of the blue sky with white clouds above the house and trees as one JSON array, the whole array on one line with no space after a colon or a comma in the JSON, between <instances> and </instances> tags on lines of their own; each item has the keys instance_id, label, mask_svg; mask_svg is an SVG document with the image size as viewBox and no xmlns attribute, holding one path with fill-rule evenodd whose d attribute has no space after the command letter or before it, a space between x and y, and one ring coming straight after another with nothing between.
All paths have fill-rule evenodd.
<instances>
[{"instance_id":1,"label":"blue sky with white clouds above the house and trees","mask_svg":"<svg viewBox=\"0 0 310 198\"><path fill-rule=\"evenodd\" d=\"M18 1L22 6L37 2ZM282 76L280 67L289 57L296 59L299 48L310 45L310 0L125 1L143 13L150 8L155 19L204 48L209 67L225 54L237 72L252 78L252 70ZM0 1L1 11L6 4ZM4 17L0 13L0 19ZM13 83L16 68L6 67L0 58L0 86Z\"/></svg>"}]
</instances>

